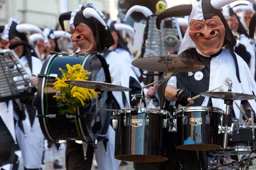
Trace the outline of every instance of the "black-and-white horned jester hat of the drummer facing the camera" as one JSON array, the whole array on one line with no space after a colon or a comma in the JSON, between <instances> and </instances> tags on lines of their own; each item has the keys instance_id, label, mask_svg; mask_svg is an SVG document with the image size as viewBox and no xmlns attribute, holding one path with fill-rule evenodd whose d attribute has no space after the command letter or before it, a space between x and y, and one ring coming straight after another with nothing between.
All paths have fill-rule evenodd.
<instances>
[{"instance_id":1,"label":"black-and-white horned jester hat of the drummer facing the camera","mask_svg":"<svg viewBox=\"0 0 256 170\"><path fill-rule=\"evenodd\" d=\"M228 24L221 12L221 8L224 7L227 4L230 4L232 2L236 2L238 0L200 0L200 1L195 1L193 4L187 4L187 5L179 5L175 7L168 8L161 12L156 19L156 27L158 30L160 30L160 25L161 21L164 18L168 17L180 17L180 16L186 16L188 15L188 28L187 31L184 35L184 38L181 42L181 47L179 50L179 54L182 53L183 51L187 50L188 48L191 47L196 47L195 43L191 40L191 38L188 35L188 32L190 30L189 23L193 19L197 20L206 20L208 18L211 18L213 16L219 16L221 18L221 21L225 27L225 38L224 38L224 43L223 46L226 45L230 52L231 55L233 56L233 59L236 63L236 74L237 78L240 81L240 76L239 76L239 68L238 68L238 62L237 62L237 57L234 54L234 45L236 45L236 39L234 38L231 30L228 27ZM255 0L248 0L253 4L256 4Z\"/></svg>"}]
</instances>

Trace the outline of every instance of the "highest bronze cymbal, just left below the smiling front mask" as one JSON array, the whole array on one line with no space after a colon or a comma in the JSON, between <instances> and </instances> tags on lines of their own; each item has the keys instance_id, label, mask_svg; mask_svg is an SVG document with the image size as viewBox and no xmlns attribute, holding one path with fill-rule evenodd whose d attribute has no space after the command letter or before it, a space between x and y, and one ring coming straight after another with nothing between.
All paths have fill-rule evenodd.
<instances>
[{"instance_id":1,"label":"highest bronze cymbal, just left below the smiling front mask","mask_svg":"<svg viewBox=\"0 0 256 170\"><path fill-rule=\"evenodd\" d=\"M159 72L189 72L204 68L204 64L194 59L173 56L138 58L132 65L140 69Z\"/></svg>"}]
</instances>

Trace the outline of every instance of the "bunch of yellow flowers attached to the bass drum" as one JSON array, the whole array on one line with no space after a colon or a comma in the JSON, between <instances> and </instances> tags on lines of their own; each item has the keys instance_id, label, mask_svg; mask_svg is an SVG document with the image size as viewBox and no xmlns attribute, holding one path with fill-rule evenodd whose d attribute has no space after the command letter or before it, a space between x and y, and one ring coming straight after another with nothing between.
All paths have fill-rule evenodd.
<instances>
[{"instance_id":1,"label":"bunch of yellow flowers attached to the bass drum","mask_svg":"<svg viewBox=\"0 0 256 170\"><path fill-rule=\"evenodd\" d=\"M66 67L67 70L59 68L62 78L56 78L56 82L53 83L53 88L58 91L53 97L56 98L59 107L67 107L60 109L60 114L76 115L77 107L85 106L87 102L91 101L92 95L96 98L96 92L93 89L65 83L67 80L87 80L87 75L91 74L88 70L84 70L80 64L75 64L72 67L67 64Z\"/></svg>"}]
</instances>

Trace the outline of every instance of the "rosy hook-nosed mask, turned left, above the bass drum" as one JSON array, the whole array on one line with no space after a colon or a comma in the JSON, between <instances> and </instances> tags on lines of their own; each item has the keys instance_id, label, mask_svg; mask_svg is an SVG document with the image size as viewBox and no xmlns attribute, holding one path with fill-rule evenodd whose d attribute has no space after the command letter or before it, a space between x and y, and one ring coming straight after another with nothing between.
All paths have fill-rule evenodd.
<instances>
[{"instance_id":1,"label":"rosy hook-nosed mask, turned left, above the bass drum","mask_svg":"<svg viewBox=\"0 0 256 170\"><path fill-rule=\"evenodd\" d=\"M97 50L98 44L90 27L84 23L79 23L75 29L70 29L71 39L79 46L81 52L93 52Z\"/></svg>"}]
</instances>

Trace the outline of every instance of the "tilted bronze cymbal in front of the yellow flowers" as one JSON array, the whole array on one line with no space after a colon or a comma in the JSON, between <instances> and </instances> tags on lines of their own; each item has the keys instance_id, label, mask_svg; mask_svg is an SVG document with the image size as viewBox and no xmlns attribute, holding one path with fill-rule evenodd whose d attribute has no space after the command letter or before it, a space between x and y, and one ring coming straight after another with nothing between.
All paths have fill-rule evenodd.
<instances>
[{"instance_id":1,"label":"tilted bronze cymbal in front of the yellow flowers","mask_svg":"<svg viewBox=\"0 0 256 170\"><path fill-rule=\"evenodd\" d=\"M94 90L101 90L101 91L131 91L131 88L118 86L111 83L104 83L104 82L94 82L94 81L84 81L84 80L69 80L65 81L65 83L78 86L78 87L84 87Z\"/></svg>"}]
</instances>

